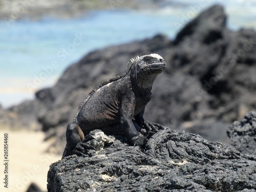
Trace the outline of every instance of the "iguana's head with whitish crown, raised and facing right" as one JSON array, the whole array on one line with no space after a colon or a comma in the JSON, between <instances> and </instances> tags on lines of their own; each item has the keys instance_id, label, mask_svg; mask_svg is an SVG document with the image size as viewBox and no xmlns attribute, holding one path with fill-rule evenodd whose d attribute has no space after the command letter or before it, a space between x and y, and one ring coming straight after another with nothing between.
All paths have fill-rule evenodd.
<instances>
[{"instance_id":1,"label":"iguana's head with whitish crown, raised and facing right","mask_svg":"<svg viewBox=\"0 0 256 192\"><path fill-rule=\"evenodd\" d=\"M141 88L152 88L158 74L166 67L164 59L158 54L137 56L130 59L127 64L126 74L130 74L132 82Z\"/></svg>"}]
</instances>

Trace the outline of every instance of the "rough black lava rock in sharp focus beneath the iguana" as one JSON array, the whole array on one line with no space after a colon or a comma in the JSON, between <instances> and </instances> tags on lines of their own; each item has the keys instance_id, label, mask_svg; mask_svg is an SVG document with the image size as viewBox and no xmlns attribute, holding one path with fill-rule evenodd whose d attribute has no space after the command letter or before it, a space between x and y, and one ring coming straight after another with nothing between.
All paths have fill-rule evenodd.
<instances>
[{"instance_id":1,"label":"rough black lava rock in sharp focus beneath the iguana","mask_svg":"<svg viewBox=\"0 0 256 192\"><path fill-rule=\"evenodd\" d=\"M166 127L143 150L119 138L97 153L53 163L47 187L50 192L255 191L256 157Z\"/></svg>"}]
</instances>

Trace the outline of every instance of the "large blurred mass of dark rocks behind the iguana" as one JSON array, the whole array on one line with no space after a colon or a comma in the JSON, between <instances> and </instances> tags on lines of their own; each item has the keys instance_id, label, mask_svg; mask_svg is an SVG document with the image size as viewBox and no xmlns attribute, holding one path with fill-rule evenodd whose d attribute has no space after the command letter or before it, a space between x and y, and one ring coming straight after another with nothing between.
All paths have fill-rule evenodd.
<instances>
[{"instance_id":1,"label":"large blurred mass of dark rocks behind the iguana","mask_svg":"<svg viewBox=\"0 0 256 192\"><path fill-rule=\"evenodd\" d=\"M42 129L48 138L65 141L66 126L90 91L122 75L130 58L157 53L167 67L154 81L145 118L228 143L228 125L256 108L256 33L231 31L226 18L216 5L186 24L175 39L159 34L95 50L71 65L53 87L36 92L35 100L0 112L0 126Z\"/></svg>"}]
</instances>

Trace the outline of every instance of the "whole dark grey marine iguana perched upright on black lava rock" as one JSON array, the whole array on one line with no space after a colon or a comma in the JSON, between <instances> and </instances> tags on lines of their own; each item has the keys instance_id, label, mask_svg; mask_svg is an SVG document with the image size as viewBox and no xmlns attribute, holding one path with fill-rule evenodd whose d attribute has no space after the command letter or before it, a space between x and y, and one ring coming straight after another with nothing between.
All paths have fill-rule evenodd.
<instances>
[{"instance_id":1,"label":"whole dark grey marine iguana perched upright on black lava rock","mask_svg":"<svg viewBox=\"0 0 256 192\"><path fill-rule=\"evenodd\" d=\"M145 105L151 99L153 82L166 67L158 54L137 56L127 63L126 73L99 84L79 106L73 122L67 126L67 145L63 157L82 155L90 148L92 130L119 129L131 145L143 146L147 140L140 137L135 123L146 130L161 125L143 118ZM135 122L135 123L134 123Z\"/></svg>"}]
</instances>

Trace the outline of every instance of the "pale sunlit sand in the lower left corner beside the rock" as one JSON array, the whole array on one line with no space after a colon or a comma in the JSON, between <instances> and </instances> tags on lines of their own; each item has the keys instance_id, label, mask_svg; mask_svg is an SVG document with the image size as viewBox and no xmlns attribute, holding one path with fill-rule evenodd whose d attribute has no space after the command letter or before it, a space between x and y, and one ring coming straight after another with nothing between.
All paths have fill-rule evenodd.
<instances>
[{"instance_id":1,"label":"pale sunlit sand in the lower left corner beside the rock","mask_svg":"<svg viewBox=\"0 0 256 192\"><path fill-rule=\"evenodd\" d=\"M9 183L8 189L3 182L0 191L26 191L34 182L42 190L47 190L47 172L49 165L58 161L61 156L45 153L52 141L44 142L42 132L0 131L1 180L4 179L4 133L9 141Z\"/></svg>"}]
</instances>

